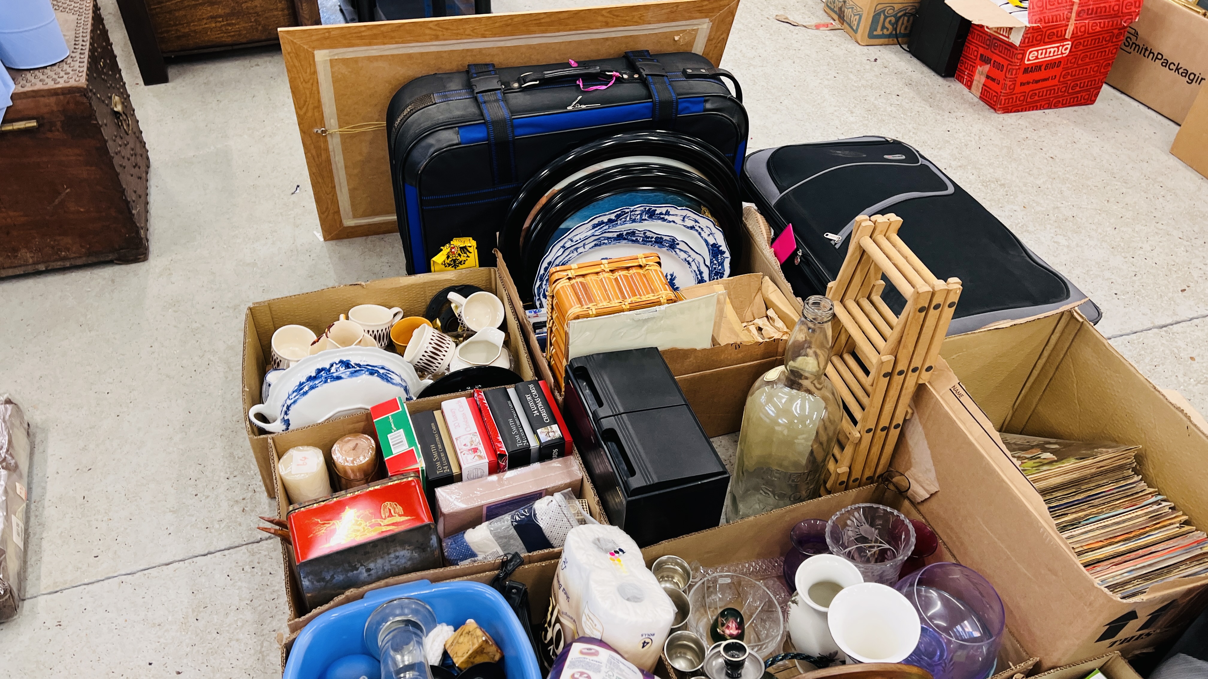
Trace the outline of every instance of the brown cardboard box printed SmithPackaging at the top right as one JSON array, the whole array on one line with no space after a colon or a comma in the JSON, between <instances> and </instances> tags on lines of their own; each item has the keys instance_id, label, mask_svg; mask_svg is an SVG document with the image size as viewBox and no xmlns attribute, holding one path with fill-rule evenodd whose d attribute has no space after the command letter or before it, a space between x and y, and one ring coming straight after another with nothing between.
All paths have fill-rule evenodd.
<instances>
[{"instance_id":1,"label":"brown cardboard box printed SmithPackaging at the top right","mask_svg":"<svg viewBox=\"0 0 1208 679\"><path fill-rule=\"evenodd\" d=\"M1174 0L1145 0L1108 85L1183 124L1208 77L1208 18Z\"/></svg>"}]
</instances>

